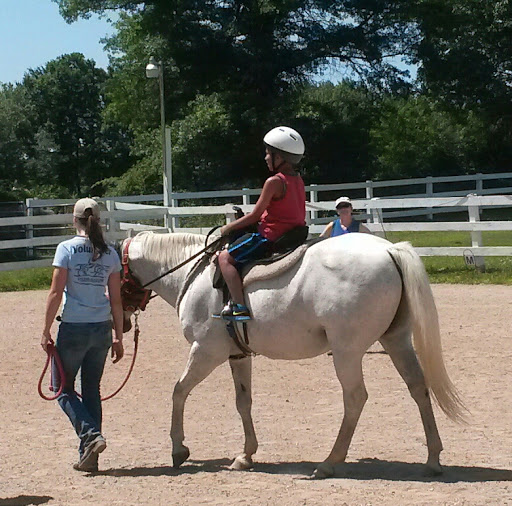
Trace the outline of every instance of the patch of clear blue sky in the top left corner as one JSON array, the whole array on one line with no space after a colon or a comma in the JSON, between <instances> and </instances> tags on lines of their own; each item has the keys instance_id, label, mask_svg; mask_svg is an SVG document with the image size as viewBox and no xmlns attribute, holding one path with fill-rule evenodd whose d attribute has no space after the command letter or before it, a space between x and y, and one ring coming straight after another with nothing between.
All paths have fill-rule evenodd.
<instances>
[{"instance_id":1,"label":"patch of clear blue sky in the top left corner","mask_svg":"<svg viewBox=\"0 0 512 506\"><path fill-rule=\"evenodd\" d=\"M0 0L0 82L20 82L28 69L73 52L106 68L100 39L113 31L98 18L68 25L50 0Z\"/></svg>"}]
</instances>

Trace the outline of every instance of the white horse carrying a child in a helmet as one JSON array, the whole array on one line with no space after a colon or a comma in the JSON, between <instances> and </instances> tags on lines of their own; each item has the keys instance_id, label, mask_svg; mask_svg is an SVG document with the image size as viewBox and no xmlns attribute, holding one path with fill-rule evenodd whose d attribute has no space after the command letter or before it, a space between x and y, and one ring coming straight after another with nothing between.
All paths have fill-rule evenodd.
<instances>
[{"instance_id":1,"label":"white horse carrying a child in a helmet","mask_svg":"<svg viewBox=\"0 0 512 506\"><path fill-rule=\"evenodd\" d=\"M148 283L198 252L204 241L205 236L192 234L139 234L129 245L130 269L142 284ZM240 359L240 349L228 335L225 322L212 318L223 301L221 291L212 287L211 269L207 263L199 268L189 263L151 288L177 309L191 344L187 366L173 393L174 466L179 467L190 455L183 444L187 396L230 360L245 433L243 452L231 467L250 468L258 447L251 417L251 357ZM250 284L245 296L254 318L247 327L249 346L256 354L296 360L332 351L343 389L344 417L331 453L313 477L332 476L335 464L346 458L368 397L362 359L376 341L391 357L418 405L427 440L428 472L442 472L442 444L429 394L453 420L462 420L465 408L443 362L428 276L409 243L391 244L368 234L327 239L307 249L288 271Z\"/></svg>"}]
</instances>

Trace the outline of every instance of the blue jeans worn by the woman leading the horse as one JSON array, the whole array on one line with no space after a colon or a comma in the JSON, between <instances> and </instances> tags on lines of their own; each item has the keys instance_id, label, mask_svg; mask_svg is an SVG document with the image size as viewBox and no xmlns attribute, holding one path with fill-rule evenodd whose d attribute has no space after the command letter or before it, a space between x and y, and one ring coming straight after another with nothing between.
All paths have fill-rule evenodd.
<instances>
[{"instance_id":1,"label":"blue jeans worn by the woman leading the horse","mask_svg":"<svg viewBox=\"0 0 512 506\"><path fill-rule=\"evenodd\" d=\"M110 321L60 324L55 347L65 378L57 401L80 438L80 456L85 447L101 435L100 381L111 345ZM82 399L75 393L75 378L79 369Z\"/></svg>"}]
</instances>

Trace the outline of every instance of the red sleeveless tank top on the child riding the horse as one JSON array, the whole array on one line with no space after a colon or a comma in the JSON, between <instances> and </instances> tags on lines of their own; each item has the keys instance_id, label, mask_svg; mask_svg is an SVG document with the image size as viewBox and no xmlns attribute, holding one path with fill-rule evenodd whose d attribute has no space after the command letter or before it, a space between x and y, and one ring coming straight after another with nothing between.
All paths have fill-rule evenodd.
<instances>
[{"instance_id":1,"label":"red sleeveless tank top on the child riding the horse","mask_svg":"<svg viewBox=\"0 0 512 506\"><path fill-rule=\"evenodd\" d=\"M258 225L258 232L269 241L275 241L288 230L306 224L304 181L298 174L290 176L278 172L276 176L285 183L286 193L282 199L270 202Z\"/></svg>"}]
</instances>

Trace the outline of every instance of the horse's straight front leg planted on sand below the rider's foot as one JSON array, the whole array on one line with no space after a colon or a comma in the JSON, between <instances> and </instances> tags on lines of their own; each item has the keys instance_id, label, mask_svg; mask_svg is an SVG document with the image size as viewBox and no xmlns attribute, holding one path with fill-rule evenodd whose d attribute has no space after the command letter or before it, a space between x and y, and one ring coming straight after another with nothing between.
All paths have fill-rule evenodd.
<instances>
[{"instance_id":1,"label":"horse's straight front leg planted on sand below the rider's foot","mask_svg":"<svg viewBox=\"0 0 512 506\"><path fill-rule=\"evenodd\" d=\"M236 391L236 408L242 424L244 426L244 451L231 464L231 469L243 470L252 467L252 456L258 449L258 441L256 439L256 432L252 423L251 407L252 407L252 393L251 393L251 357L244 357L240 359L232 358L229 360L231 366L231 374L235 382Z\"/></svg>"}]
</instances>

